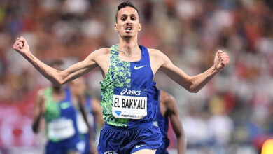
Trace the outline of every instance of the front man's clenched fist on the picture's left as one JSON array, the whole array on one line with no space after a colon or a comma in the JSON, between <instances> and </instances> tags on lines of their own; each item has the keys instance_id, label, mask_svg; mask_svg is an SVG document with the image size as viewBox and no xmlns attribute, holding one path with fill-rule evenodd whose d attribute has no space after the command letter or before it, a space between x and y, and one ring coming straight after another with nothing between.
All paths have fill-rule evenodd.
<instances>
[{"instance_id":1,"label":"front man's clenched fist on the picture's left","mask_svg":"<svg viewBox=\"0 0 273 154\"><path fill-rule=\"evenodd\" d=\"M29 45L24 37L17 38L15 43L13 44L13 49L16 50L21 55L27 55L30 53Z\"/></svg>"}]
</instances>

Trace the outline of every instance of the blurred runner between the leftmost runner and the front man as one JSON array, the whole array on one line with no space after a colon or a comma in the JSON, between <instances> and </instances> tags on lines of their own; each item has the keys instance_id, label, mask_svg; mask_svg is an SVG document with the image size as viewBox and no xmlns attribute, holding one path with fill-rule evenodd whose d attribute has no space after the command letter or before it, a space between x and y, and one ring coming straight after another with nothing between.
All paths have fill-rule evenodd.
<instances>
[{"instance_id":1,"label":"blurred runner between the leftmost runner and the front man","mask_svg":"<svg viewBox=\"0 0 273 154\"><path fill-rule=\"evenodd\" d=\"M84 78L77 78L73 80L70 84L71 91L74 94L83 94L83 104L85 113L87 114L87 120L89 122L89 126L86 125L83 114L80 113L80 109L77 111L77 125L78 131L80 133L80 139L82 139L85 145L85 151L83 154L96 153L97 148L95 148L96 143L96 132L97 129L102 128L104 125L104 119L102 117L102 108L99 105L99 100L92 97L90 94L86 92L86 82ZM92 134L89 134L89 131L92 131ZM92 144L91 144L92 143Z\"/></svg>"}]
</instances>

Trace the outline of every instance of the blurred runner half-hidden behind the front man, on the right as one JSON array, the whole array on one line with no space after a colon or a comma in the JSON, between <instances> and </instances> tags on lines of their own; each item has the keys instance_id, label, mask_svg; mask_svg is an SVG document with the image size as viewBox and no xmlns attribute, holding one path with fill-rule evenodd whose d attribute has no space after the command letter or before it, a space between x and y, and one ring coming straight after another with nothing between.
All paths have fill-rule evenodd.
<instances>
[{"instance_id":1,"label":"blurred runner half-hidden behind the front man, on the right","mask_svg":"<svg viewBox=\"0 0 273 154\"><path fill-rule=\"evenodd\" d=\"M171 94L163 90L158 90L158 111L156 113L155 126L160 128L162 135L162 144L156 151L156 154L167 154L167 148L169 146L168 130L169 119L171 120L174 133L177 137L177 152L178 154L186 153L186 138L184 136L181 119L179 118L178 107L176 106L176 100Z\"/></svg>"}]
</instances>

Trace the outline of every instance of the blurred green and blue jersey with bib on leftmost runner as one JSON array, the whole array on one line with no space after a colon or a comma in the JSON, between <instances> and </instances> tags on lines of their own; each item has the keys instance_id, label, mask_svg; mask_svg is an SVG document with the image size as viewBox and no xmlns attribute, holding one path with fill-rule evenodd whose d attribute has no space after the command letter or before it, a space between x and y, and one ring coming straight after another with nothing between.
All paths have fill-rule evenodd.
<instances>
[{"instance_id":1,"label":"blurred green and blue jersey with bib on leftmost runner","mask_svg":"<svg viewBox=\"0 0 273 154\"><path fill-rule=\"evenodd\" d=\"M71 101L69 88L65 89L66 97L56 102L52 98L52 88L45 89L45 121L47 136L57 142L71 137L78 137L76 110Z\"/></svg>"}]
</instances>

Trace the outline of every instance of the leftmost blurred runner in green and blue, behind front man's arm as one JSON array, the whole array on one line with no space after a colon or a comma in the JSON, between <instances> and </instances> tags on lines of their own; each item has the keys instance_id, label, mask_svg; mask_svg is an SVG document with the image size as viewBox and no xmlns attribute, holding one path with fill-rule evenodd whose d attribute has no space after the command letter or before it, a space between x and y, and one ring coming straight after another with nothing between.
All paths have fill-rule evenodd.
<instances>
[{"instance_id":1,"label":"leftmost blurred runner in green and blue, behind front man's arm","mask_svg":"<svg viewBox=\"0 0 273 154\"><path fill-rule=\"evenodd\" d=\"M62 61L55 61L50 65L61 69ZM38 92L32 130L37 133L41 118L45 118L48 137L45 153L79 154L83 151L76 125L79 102L78 98L73 97L69 87L51 85Z\"/></svg>"}]
</instances>

